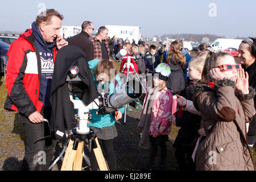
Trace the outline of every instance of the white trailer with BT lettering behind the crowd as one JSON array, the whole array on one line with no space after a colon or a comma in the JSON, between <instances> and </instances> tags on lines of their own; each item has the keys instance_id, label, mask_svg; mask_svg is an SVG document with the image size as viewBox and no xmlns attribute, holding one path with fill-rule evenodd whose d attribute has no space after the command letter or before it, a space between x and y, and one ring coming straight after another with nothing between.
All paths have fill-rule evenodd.
<instances>
[{"instance_id":1,"label":"white trailer with BT lettering behind the crowd","mask_svg":"<svg viewBox=\"0 0 256 182\"><path fill-rule=\"evenodd\" d=\"M141 27L139 26L119 26L119 25L105 25L106 28L109 30L109 37L113 38L113 36L117 38L122 38L125 40L128 38L130 43L135 40L135 43L138 43L139 39L141 38Z\"/></svg>"}]
</instances>

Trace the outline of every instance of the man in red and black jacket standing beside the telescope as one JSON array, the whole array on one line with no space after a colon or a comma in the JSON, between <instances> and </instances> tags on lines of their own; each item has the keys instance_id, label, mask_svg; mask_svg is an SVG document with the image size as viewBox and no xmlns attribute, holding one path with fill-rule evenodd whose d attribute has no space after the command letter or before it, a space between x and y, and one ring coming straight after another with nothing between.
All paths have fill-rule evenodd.
<instances>
[{"instance_id":1,"label":"man in red and black jacket standing beside the telescope","mask_svg":"<svg viewBox=\"0 0 256 182\"><path fill-rule=\"evenodd\" d=\"M63 15L53 9L39 14L32 28L20 35L7 53L4 108L19 111L26 130L22 170L48 170L57 143L46 121L51 117L49 93L55 57L57 50L68 44L59 35L62 19Z\"/></svg>"}]
</instances>

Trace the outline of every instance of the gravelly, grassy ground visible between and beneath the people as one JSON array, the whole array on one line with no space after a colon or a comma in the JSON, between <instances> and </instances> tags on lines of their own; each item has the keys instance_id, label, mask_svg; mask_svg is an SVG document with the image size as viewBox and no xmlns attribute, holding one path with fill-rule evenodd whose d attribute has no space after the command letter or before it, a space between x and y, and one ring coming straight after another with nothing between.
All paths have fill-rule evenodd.
<instances>
[{"instance_id":1,"label":"gravelly, grassy ground visible between and beneath the people","mask_svg":"<svg viewBox=\"0 0 256 182\"><path fill-rule=\"evenodd\" d=\"M156 45L158 46L158 45ZM191 56L195 57L196 52L191 51ZM7 96L4 77L0 82L0 170L16 171L19 170L22 162L26 145L26 133L21 125L18 113L10 112L3 109L3 105ZM143 101L143 97L141 98ZM140 133L137 129L138 119L141 117L141 109L135 109L131 104L132 111L127 111L126 122L123 118L116 122L118 137L114 139L114 151L117 158L117 168L119 171L134 171L137 164L146 164L150 150L144 150L138 147ZM167 142L167 165L166 170L179 170L174 156L175 148L172 144L177 135L177 127L172 126L169 141ZM63 141L59 142L56 148L55 158L59 156L63 149ZM159 153L158 153L159 155ZM159 158L156 158L158 164ZM84 162L83 167L87 164ZM59 171L61 168L61 160L59 160L53 171ZM85 170L88 170L86 168Z\"/></svg>"}]
</instances>

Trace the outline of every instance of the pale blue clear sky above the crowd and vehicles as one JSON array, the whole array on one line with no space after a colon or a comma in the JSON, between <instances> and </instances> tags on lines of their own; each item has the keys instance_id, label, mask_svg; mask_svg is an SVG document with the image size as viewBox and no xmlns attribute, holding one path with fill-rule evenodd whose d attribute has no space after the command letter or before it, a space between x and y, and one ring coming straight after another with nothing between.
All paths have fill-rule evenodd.
<instances>
[{"instance_id":1,"label":"pale blue clear sky above the crowd and vehicles","mask_svg":"<svg viewBox=\"0 0 256 182\"><path fill-rule=\"evenodd\" d=\"M140 26L147 37L181 33L256 36L255 0L3 1L1 31L23 32L45 6L64 15L63 26L81 26L90 20L96 30L105 24Z\"/></svg>"}]
</instances>

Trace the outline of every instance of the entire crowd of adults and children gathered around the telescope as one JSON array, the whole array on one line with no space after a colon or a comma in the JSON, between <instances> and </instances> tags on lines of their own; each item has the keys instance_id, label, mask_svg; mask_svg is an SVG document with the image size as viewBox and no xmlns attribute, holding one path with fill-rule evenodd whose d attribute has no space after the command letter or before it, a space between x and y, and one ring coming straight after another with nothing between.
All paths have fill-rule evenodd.
<instances>
[{"instance_id":1,"label":"entire crowd of adults and children gathered around the telescope","mask_svg":"<svg viewBox=\"0 0 256 182\"><path fill-rule=\"evenodd\" d=\"M242 41L240 63L236 63L229 53L214 51L206 45L200 45L197 56L192 58L183 48L182 40L164 41L159 48L147 48L141 39L130 43L115 36L109 38L104 26L92 37L94 26L90 21L83 22L81 33L67 41L59 35L62 19L63 15L53 9L39 14L32 28L20 35L8 52L8 96L4 107L19 111L26 130L22 170L48 170L52 162L58 139L56 131L48 131L46 122L53 122L51 80L57 52L67 45L84 52L95 86L105 88L108 84L109 94L122 85L118 69L127 76L127 68L122 69L127 59L122 59L118 68L113 57L121 49L126 50L126 56L141 55L138 60L131 59L134 69L129 74L146 76L144 102L134 102L135 109L142 109L139 147L150 148L150 156L137 169L165 169L166 142L175 125L179 128L174 142L175 157L181 171L254 170L250 148L256 140L255 38ZM115 71L114 77L111 69ZM131 108L127 106L127 110ZM115 121L122 118L124 111L125 107L114 114L97 114L97 110L92 110L88 124L102 140L109 169L113 171L117 170L113 147L113 139L118 136ZM155 165L158 146L160 162ZM46 164L38 163L39 151L46 151ZM97 170L93 152L89 158L92 170Z\"/></svg>"}]
</instances>

